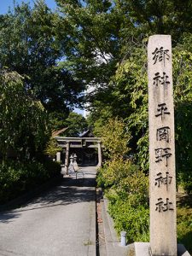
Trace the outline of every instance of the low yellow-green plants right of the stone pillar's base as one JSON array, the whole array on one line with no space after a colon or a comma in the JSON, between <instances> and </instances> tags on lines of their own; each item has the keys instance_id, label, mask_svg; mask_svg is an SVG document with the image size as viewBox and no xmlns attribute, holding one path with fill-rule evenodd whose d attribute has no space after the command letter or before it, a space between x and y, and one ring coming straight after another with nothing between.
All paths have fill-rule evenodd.
<instances>
[{"instance_id":1,"label":"low yellow-green plants right of the stone pillar's base","mask_svg":"<svg viewBox=\"0 0 192 256\"><path fill-rule=\"evenodd\" d=\"M177 242L192 254L192 200L190 195L178 197L177 201Z\"/></svg>"}]
</instances>

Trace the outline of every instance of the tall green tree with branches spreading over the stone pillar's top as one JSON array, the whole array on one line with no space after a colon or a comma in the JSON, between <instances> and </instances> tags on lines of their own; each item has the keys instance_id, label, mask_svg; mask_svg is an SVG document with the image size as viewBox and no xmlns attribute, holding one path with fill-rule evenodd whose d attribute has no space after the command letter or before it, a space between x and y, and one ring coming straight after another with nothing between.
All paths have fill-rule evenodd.
<instances>
[{"instance_id":1,"label":"tall green tree with branches spreading over the stone pillar's top","mask_svg":"<svg viewBox=\"0 0 192 256\"><path fill-rule=\"evenodd\" d=\"M87 84L105 85L116 64L154 33L169 33L177 44L192 25L191 0L56 0L61 12L57 37L64 65Z\"/></svg>"}]
</instances>

